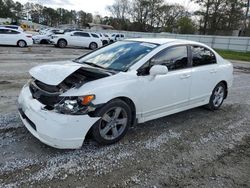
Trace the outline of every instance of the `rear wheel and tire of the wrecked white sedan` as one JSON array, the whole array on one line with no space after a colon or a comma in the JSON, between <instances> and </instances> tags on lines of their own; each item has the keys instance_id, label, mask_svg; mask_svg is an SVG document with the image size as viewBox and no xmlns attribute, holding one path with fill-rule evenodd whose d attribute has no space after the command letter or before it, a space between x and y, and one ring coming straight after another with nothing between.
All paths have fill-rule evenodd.
<instances>
[{"instance_id":1,"label":"rear wheel and tire of the wrecked white sedan","mask_svg":"<svg viewBox=\"0 0 250 188\"><path fill-rule=\"evenodd\" d=\"M210 96L209 103L207 107L210 110L218 110L222 105L226 96L226 86L224 83L220 82L217 84Z\"/></svg>"}]
</instances>

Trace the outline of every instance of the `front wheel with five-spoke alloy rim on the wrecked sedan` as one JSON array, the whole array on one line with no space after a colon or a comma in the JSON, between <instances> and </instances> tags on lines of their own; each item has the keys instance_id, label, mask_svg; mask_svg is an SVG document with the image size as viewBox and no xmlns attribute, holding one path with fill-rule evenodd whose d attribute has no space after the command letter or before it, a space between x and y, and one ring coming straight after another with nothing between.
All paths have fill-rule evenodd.
<instances>
[{"instance_id":1,"label":"front wheel with five-spoke alloy rim on the wrecked sedan","mask_svg":"<svg viewBox=\"0 0 250 188\"><path fill-rule=\"evenodd\" d=\"M92 127L93 138L101 145L113 144L127 133L132 123L131 108L120 99L115 99L97 110L101 117Z\"/></svg>"}]
</instances>

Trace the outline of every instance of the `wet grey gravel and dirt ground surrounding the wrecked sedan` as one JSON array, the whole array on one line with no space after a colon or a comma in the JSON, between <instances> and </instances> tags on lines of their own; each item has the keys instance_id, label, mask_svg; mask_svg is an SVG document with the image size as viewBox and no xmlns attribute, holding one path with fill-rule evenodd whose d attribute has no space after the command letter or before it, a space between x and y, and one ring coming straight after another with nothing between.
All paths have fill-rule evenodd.
<instances>
[{"instance_id":1,"label":"wet grey gravel and dirt ground surrounding the wrecked sedan","mask_svg":"<svg viewBox=\"0 0 250 188\"><path fill-rule=\"evenodd\" d=\"M122 141L80 150L40 143L16 101L28 70L85 49L0 47L0 187L250 187L250 63L234 63L219 111L195 108L132 127Z\"/></svg>"}]
</instances>

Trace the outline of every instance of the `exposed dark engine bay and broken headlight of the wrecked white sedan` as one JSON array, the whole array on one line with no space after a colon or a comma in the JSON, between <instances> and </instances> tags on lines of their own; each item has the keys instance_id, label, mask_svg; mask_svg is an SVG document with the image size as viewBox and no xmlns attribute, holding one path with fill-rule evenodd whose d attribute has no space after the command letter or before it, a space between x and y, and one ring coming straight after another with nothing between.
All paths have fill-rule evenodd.
<instances>
[{"instance_id":1,"label":"exposed dark engine bay and broken headlight of the wrecked white sedan","mask_svg":"<svg viewBox=\"0 0 250 188\"><path fill-rule=\"evenodd\" d=\"M62 94L72 88L80 88L87 82L109 75L102 71L93 72L91 69L79 68L58 85L49 85L33 78L29 82L29 89L32 97L42 103L45 110L61 114L82 115L96 109L97 106L92 103L95 95L65 97Z\"/></svg>"}]
</instances>

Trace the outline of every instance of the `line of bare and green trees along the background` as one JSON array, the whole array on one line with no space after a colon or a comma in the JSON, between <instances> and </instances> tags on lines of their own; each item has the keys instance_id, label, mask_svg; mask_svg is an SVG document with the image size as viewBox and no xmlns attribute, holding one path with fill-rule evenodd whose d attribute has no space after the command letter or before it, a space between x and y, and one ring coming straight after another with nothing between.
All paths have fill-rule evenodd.
<instances>
[{"instance_id":1,"label":"line of bare and green trees along the background","mask_svg":"<svg viewBox=\"0 0 250 188\"><path fill-rule=\"evenodd\" d=\"M211 35L231 35L232 31L241 30L241 35L250 35L249 0L191 1L199 5L199 10L188 10L183 5L164 0L115 0L106 7L111 16L102 17L84 11L0 0L0 17L17 21L28 13L31 21L48 26L76 24L85 27L95 22L118 30Z\"/></svg>"}]
</instances>

